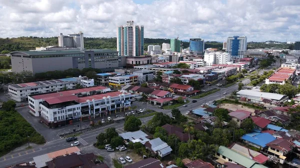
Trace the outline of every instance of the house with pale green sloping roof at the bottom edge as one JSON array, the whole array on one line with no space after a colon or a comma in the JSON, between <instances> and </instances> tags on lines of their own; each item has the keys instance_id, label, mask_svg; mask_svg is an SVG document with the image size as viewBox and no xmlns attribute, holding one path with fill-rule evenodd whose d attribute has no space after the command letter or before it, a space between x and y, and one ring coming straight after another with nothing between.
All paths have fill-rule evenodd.
<instances>
[{"instance_id":1,"label":"house with pale green sloping roof at the bottom edge","mask_svg":"<svg viewBox=\"0 0 300 168\"><path fill-rule=\"evenodd\" d=\"M217 160L215 161L220 163L221 165L231 163L241 165L245 168L267 168L257 163L256 161L253 161L224 146L219 146L218 151L215 153L214 157L217 158Z\"/></svg>"}]
</instances>

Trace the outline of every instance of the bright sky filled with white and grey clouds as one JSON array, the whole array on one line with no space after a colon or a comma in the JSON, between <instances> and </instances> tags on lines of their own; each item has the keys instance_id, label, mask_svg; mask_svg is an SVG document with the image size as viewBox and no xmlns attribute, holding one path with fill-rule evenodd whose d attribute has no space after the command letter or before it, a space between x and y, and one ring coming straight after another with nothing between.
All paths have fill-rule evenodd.
<instances>
[{"instance_id":1,"label":"bright sky filled with white and grey clouds","mask_svg":"<svg viewBox=\"0 0 300 168\"><path fill-rule=\"evenodd\" d=\"M300 40L300 0L0 0L0 37L116 37L127 20L145 38Z\"/></svg>"}]
</instances>

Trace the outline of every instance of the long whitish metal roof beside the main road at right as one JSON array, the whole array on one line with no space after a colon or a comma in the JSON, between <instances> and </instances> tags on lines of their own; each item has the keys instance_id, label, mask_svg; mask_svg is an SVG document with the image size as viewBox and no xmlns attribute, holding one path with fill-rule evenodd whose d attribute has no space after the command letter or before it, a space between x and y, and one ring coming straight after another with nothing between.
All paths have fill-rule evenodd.
<instances>
[{"instance_id":1,"label":"long whitish metal roof beside the main road at right","mask_svg":"<svg viewBox=\"0 0 300 168\"><path fill-rule=\"evenodd\" d=\"M285 96L277 93L258 92L254 90L240 90L236 94L261 97L261 98L266 98L271 100L281 100Z\"/></svg>"}]
</instances>

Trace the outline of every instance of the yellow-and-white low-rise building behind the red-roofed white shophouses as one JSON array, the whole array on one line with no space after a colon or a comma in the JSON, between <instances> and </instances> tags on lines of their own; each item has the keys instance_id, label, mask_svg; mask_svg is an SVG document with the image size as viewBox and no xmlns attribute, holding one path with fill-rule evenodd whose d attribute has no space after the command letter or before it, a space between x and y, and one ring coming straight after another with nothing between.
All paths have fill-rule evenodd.
<instances>
[{"instance_id":1,"label":"yellow-and-white low-rise building behind the red-roofed white shophouses","mask_svg":"<svg viewBox=\"0 0 300 168\"><path fill-rule=\"evenodd\" d=\"M121 89L125 85L137 85L138 80L137 75L123 75L123 76L115 76L108 77L108 85L109 87L113 87L116 89Z\"/></svg>"}]
</instances>

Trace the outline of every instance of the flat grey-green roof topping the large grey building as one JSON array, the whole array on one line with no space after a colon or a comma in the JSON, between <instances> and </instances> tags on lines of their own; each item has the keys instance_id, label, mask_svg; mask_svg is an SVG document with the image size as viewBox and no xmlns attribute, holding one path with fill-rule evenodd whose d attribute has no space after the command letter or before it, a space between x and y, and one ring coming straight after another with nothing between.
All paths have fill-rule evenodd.
<instances>
[{"instance_id":1,"label":"flat grey-green roof topping the large grey building","mask_svg":"<svg viewBox=\"0 0 300 168\"><path fill-rule=\"evenodd\" d=\"M102 52L117 52L112 49L94 49L94 50L85 50L85 51L94 51L94 53L102 53ZM13 53L24 53L29 55L53 55L53 54L83 54L84 50L57 50L57 51L13 51L9 54Z\"/></svg>"}]
</instances>

